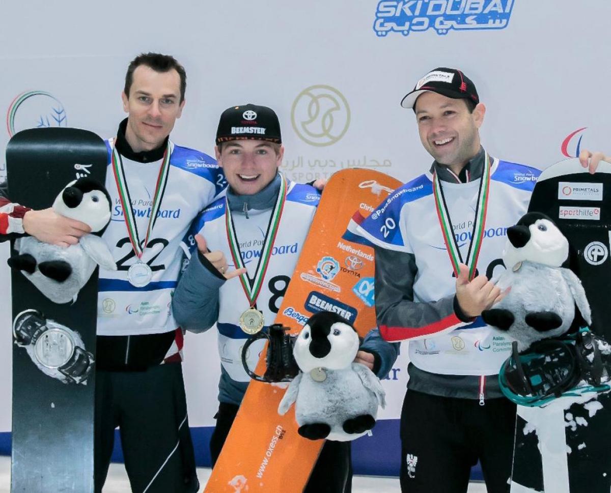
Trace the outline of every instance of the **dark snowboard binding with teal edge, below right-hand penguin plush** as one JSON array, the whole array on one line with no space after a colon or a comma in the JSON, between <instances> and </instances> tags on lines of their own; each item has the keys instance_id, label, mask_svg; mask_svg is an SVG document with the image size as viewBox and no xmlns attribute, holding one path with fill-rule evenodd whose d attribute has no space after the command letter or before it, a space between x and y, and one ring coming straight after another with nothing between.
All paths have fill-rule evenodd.
<instances>
[{"instance_id":1,"label":"dark snowboard binding with teal edge, below right-hand penguin plush","mask_svg":"<svg viewBox=\"0 0 611 493\"><path fill-rule=\"evenodd\" d=\"M588 328L537 341L521 353L514 341L499 383L505 397L529 407L611 390L611 345Z\"/></svg>"}]
</instances>

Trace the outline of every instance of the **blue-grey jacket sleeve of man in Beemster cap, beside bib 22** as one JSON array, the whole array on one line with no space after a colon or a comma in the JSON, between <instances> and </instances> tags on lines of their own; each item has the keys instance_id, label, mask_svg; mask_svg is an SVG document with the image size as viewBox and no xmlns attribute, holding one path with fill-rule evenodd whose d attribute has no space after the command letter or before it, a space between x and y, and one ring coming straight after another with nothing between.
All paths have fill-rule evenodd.
<instances>
[{"instance_id":1,"label":"blue-grey jacket sleeve of man in Beemster cap, beside bib 22","mask_svg":"<svg viewBox=\"0 0 611 493\"><path fill-rule=\"evenodd\" d=\"M172 297L172 313L189 332L204 332L219 318L219 289L225 278L199 251L191 255Z\"/></svg>"}]
</instances>

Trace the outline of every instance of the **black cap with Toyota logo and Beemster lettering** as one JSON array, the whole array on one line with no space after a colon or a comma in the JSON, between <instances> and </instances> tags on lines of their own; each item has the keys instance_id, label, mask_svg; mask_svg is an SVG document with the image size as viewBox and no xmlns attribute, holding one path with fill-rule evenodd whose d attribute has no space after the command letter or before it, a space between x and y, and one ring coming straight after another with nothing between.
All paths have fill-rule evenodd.
<instances>
[{"instance_id":1,"label":"black cap with Toyota logo and Beemster lettering","mask_svg":"<svg viewBox=\"0 0 611 493\"><path fill-rule=\"evenodd\" d=\"M257 104L232 106L221 114L216 143L251 139L282 143L280 122L273 109Z\"/></svg>"}]
</instances>

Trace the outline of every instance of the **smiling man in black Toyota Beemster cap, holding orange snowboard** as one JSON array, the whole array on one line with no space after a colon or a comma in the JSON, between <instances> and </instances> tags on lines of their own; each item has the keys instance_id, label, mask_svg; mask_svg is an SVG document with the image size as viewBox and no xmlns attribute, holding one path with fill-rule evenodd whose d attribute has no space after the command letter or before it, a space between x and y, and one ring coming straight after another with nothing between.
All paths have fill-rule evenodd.
<instances>
[{"instance_id":1,"label":"smiling man in black Toyota Beemster cap, holding orange snowboard","mask_svg":"<svg viewBox=\"0 0 611 493\"><path fill-rule=\"evenodd\" d=\"M216 323L219 330L213 464L250 381L241 348L249 334L274 323L320 198L309 185L279 173L284 146L276 113L268 107L247 104L225 110L215 152L229 183L227 195L205 209L188 234L186 246L196 254L172 301L183 328L203 332ZM255 367L262 349L263 340L251 345L249 367ZM327 442L305 491L349 492L351 480L349 442Z\"/></svg>"}]
</instances>

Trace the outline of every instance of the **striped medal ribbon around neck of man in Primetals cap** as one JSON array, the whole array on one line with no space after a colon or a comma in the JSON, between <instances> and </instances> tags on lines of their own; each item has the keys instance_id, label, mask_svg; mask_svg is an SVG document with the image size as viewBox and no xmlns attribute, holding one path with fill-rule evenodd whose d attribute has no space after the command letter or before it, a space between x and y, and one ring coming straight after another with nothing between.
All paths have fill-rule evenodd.
<instances>
[{"instance_id":1,"label":"striped medal ribbon around neck of man in Primetals cap","mask_svg":"<svg viewBox=\"0 0 611 493\"><path fill-rule=\"evenodd\" d=\"M454 269L456 277L458 277L460 270L458 264L466 264L469 266L469 280L475 277L475 267L477 266L477 259L480 256L481 240L484 237L486 212L488 212L490 159L488 154L485 156L484 168L480 178L480 188L478 190L477 206L475 207L475 220L473 231L471 232L471 241L469 243L469 250L467 251L466 262L463 262L458 243L456 243L456 237L452 228L452 220L450 220L450 213L445 204L444 190L441 187L441 181L437 176L437 172L433 173L433 195L435 197L435 207L437 209L439 225L441 226L441 232L444 236L445 248L448 251L448 256L450 257L450 262L452 263L452 268Z\"/></svg>"}]
</instances>

